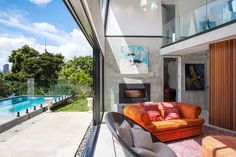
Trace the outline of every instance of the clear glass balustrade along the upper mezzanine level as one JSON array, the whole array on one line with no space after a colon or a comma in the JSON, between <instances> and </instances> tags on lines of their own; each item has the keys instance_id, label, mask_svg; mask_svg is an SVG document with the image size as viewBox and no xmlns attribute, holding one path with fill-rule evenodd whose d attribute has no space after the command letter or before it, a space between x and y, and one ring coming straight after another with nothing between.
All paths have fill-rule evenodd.
<instances>
[{"instance_id":1,"label":"clear glass balustrade along the upper mezzanine level","mask_svg":"<svg viewBox=\"0 0 236 157\"><path fill-rule=\"evenodd\" d=\"M164 45L236 20L236 0L179 0L176 7L175 18L163 25Z\"/></svg>"}]
</instances>

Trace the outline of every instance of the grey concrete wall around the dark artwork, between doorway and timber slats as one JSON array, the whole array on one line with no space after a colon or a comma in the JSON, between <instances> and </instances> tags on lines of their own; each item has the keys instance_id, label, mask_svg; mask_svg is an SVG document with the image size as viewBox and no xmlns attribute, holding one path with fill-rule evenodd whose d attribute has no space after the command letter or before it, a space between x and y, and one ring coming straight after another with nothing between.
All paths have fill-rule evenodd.
<instances>
[{"instance_id":1,"label":"grey concrete wall around the dark artwork, between doorway and timber slats","mask_svg":"<svg viewBox=\"0 0 236 157\"><path fill-rule=\"evenodd\" d=\"M202 109L208 109L208 57L207 52L182 56L182 102L198 104ZM203 91L185 91L185 64L205 64L205 90Z\"/></svg>"}]
</instances>

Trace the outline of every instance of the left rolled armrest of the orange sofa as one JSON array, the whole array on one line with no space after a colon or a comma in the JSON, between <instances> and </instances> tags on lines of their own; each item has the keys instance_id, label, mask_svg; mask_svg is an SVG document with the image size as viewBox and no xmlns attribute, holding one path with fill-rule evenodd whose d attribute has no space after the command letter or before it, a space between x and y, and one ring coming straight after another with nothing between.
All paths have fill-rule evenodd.
<instances>
[{"instance_id":1,"label":"left rolled armrest of the orange sofa","mask_svg":"<svg viewBox=\"0 0 236 157\"><path fill-rule=\"evenodd\" d=\"M151 123L148 113L141 107L141 105L127 105L123 111L125 116L131 118L145 128Z\"/></svg>"}]
</instances>

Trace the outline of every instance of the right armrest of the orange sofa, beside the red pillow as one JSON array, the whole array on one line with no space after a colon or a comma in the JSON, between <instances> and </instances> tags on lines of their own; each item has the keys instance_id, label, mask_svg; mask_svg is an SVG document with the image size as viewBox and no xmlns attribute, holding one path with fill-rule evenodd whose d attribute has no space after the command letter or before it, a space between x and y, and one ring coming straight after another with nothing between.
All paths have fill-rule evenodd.
<instances>
[{"instance_id":1,"label":"right armrest of the orange sofa, beside the red pillow","mask_svg":"<svg viewBox=\"0 0 236 157\"><path fill-rule=\"evenodd\" d=\"M185 119L196 119L201 113L201 107L188 103L177 103L180 113Z\"/></svg>"}]
</instances>

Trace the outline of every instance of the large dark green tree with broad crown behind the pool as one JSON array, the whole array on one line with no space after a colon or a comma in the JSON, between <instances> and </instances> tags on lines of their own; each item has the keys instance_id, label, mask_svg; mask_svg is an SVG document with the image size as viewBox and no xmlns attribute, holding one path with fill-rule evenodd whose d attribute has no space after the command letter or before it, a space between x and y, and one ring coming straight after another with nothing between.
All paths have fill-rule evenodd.
<instances>
[{"instance_id":1,"label":"large dark green tree with broad crown behind the pool","mask_svg":"<svg viewBox=\"0 0 236 157\"><path fill-rule=\"evenodd\" d=\"M12 51L9 62L12 63L12 71L5 76L5 79L11 81L14 93L25 94L27 79L34 78L36 94L42 94L48 92L51 80L58 79L58 73L64 65L64 56L49 52L40 54L28 45L24 45Z\"/></svg>"}]
</instances>

